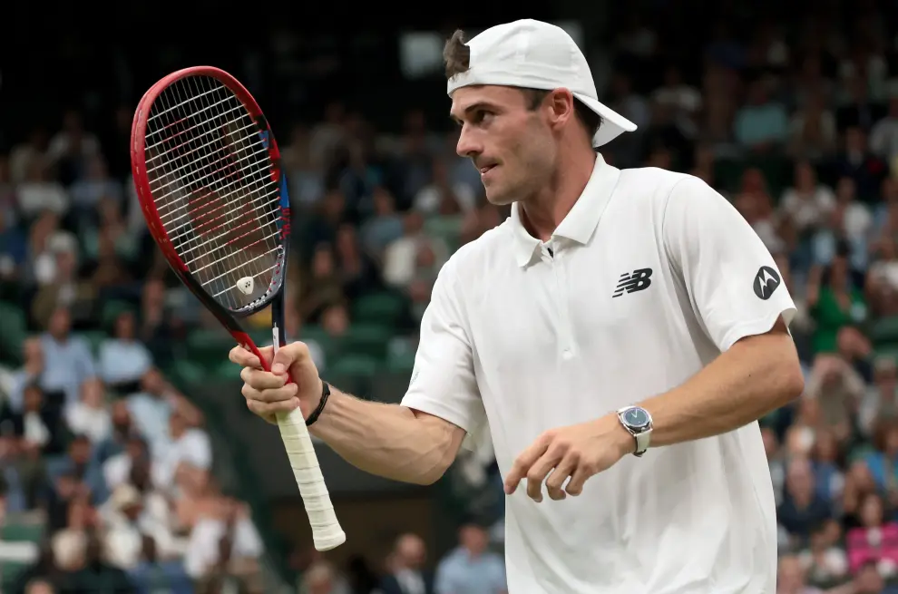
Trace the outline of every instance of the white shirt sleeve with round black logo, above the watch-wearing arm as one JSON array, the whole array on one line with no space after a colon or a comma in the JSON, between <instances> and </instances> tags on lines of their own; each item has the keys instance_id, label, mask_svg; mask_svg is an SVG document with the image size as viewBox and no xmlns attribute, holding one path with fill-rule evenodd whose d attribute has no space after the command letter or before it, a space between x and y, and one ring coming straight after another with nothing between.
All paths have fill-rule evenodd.
<instances>
[{"instance_id":1,"label":"white shirt sleeve with round black logo, above the watch-wearing arm","mask_svg":"<svg viewBox=\"0 0 898 594\"><path fill-rule=\"evenodd\" d=\"M779 316L788 325L795 303L773 256L723 196L698 178L670 191L662 235L672 267L721 352L764 334Z\"/></svg>"}]
</instances>

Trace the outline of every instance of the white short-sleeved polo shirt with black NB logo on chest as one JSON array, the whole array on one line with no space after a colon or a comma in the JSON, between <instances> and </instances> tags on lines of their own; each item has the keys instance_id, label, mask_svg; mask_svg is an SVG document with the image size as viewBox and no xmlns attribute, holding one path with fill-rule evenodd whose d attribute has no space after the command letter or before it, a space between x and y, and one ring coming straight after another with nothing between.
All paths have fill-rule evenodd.
<instances>
[{"instance_id":1,"label":"white short-sleeved polo shirt with black NB logo on chest","mask_svg":"<svg viewBox=\"0 0 898 594\"><path fill-rule=\"evenodd\" d=\"M469 434L488 420L504 476L547 429L666 392L777 316L791 321L779 278L704 181L599 157L547 244L514 205L446 263L403 404ZM776 505L756 423L625 456L580 497L536 503L519 488L505 523L510 594L776 589Z\"/></svg>"}]
</instances>

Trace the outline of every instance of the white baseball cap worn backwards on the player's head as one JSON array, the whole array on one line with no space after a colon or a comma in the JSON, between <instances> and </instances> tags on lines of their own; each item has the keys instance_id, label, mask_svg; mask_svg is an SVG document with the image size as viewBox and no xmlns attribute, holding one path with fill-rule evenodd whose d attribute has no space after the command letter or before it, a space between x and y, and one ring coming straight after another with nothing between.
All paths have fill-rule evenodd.
<instances>
[{"instance_id":1,"label":"white baseball cap worn backwards on the player's head","mask_svg":"<svg viewBox=\"0 0 898 594\"><path fill-rule=\"evenodd\" d=\"M471 48L469 69L449 79L450 97L455 89L473 84L568 89L605 121L592 139L593 147L636 130L635 123L599 102L590 64L561 27L532 19L497 24L466 45Z\"/></svg>"}]
</instances>

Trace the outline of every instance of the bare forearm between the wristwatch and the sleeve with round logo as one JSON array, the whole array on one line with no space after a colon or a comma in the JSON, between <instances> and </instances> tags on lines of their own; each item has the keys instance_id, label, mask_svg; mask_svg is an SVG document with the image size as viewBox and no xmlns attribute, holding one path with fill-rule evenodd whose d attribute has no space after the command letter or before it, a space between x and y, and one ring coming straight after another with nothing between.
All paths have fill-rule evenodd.
<instances>
[{"instance_id":1,"label":"bare forearm between the wristwatch and the sleeve with round logo","mask_svg":"<svg viewBox=\"0 0 898 594\"><path fill-rule=\"evenodd\" d=\"M795 346L782 326L782 332L738 342L685 384L641 405L652 415L652 446L671 445L756 421L798 397L803 386Z\"/></svg>"}]
</instances>

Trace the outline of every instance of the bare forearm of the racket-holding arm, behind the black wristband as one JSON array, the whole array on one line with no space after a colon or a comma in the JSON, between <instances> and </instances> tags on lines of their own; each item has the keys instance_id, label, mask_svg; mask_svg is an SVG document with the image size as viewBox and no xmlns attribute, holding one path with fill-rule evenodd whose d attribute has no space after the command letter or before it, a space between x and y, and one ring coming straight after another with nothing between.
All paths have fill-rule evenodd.
<instances>
[{"instance_id":1,"label":"bare forearm of the racket-holding arm, behind the black wristband","mask_svg":"<svg viewBox=\"0 0 898 594\"><path fill-rule=\"evenodd\" d=\"M333 387L309 431L365 472L416 484L443 476L457 450L444 421L419 418L397 404L359 400Z\"/></svg>"}]
</instances>

